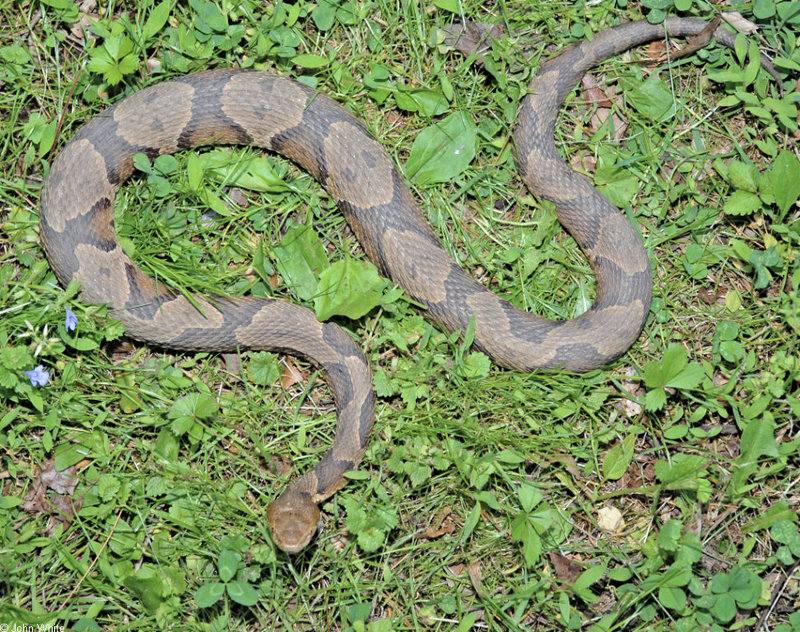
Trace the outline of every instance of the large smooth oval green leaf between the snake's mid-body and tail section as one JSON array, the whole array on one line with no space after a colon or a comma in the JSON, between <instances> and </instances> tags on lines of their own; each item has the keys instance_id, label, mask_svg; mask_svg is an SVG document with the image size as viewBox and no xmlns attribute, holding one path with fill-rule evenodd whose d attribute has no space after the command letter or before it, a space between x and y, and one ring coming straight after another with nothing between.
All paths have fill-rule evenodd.
<instances>
[{"instance_id":1,"label":"large smooth oval green leaf between the snake's mid-body and tail section","mask_svg":"<svg viewBox=\"0 0 800 632\"><path fill-rule=\"evenodd\" d=\"M414 139L406 175L419 184L448 182L475 157L477 128L466 112L453 112Z\"/></svg>"}]
</instances>

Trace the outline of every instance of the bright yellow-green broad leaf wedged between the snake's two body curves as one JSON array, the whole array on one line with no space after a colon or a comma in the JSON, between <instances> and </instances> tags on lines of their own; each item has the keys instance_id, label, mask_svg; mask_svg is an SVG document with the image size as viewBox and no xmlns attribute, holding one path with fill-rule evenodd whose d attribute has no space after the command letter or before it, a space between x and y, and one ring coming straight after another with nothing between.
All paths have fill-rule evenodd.
<instances>
[{"instance_id":1,"label":"bright yellow-green broad leaf wedged between the snake's two body curves","mask_svg":"<svg viewBox=\"0 0 800 632\"><path fill-rule=\"evenodd\" d=\"M364 261L346 257L324 270L319 277L314 310L317 318L332 316L361 318L380 305L387 282L378 269Z\"/></svg>"}]
</instances>

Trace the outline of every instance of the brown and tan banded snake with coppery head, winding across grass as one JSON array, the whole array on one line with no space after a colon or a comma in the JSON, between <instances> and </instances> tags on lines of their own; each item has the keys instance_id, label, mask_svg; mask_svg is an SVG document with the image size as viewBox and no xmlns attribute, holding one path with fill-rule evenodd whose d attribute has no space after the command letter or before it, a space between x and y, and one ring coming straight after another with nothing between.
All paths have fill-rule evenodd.
<instances>
[{"instance_id":1,"label":"brown and tan banded snake with coppery head, winding across grass","mask_svg":"<svg viewBox=\"0 0 800 632\"><path fill-rule=\"evenodd\" d=\"M331 447L267 507L275 545L303 550L320 523L319 504L363 457L376 397L367 360L353 338L292 302L254 296L186 295L148 277L125 254L114 228L114 198L149 158L214 144L276 152L308 171L336 201L380 272L447 331L474 326L474 346L496 364L581 372L608 364L638 338L652 276L642 237L626 217L556 150L558 110L583 74L628 48L693 36L706 22L629 22L574 44L546 61L519 107L514 138L522 180L555 204L558 219L596 276L592 307L548 320L498 297L459 267L424 219L400 170L366 127L318 91L271 71L215 69L135 92L91 118L60 150L40 200L40 234L63 285L108 305L126 335L168 349L271 350L307 358L328 382L336 408ZM735 35L718 28L733 48ZM764 59L762 67L780 79Z\"/></svg>"}]
</instances>

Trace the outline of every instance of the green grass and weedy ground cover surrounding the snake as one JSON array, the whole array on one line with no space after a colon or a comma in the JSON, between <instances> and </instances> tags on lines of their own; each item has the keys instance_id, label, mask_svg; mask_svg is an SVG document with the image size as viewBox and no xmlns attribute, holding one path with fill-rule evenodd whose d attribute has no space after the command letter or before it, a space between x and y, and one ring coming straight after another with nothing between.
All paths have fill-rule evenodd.
<instances>
[{"instance_id":1,"label":"green grass and weedy ground cover surrounding the snake","mask_svg":"<svg viewBox=\"0 0 800 632\"><path fill-rule=\"evenodd\" d=\"M596 70L623 131L593 119L588 88L563 109L559 146L641 226L654 262L650 318L615 363L586 375L499 369L368 276L374 307L336 320L375 371L378 421L361 468L324 505L320 537L296 557L273 548L265 509L330 444L321 376L271 354L138 345L78 288L59 287L37 221L55 151L146 84L275 68L344 103L401 167L427 169L414 194L485 285L569 318L591 302L594 280L517 177L517 104L540 56L660 9L464 2L468 18L508 31L481 70L438 39L456 8L448 0L112 2L88 16L66 0L0 6L0 621L800 630L792 3L745 13L784 60L782 98L752 59L712 46L655 74L631 63L647 50ZM414 141L454 113L477 152L445 174ZM274 156L197 151L142 167L118 196L117 228L171 285L314 307L326 270L363 259L324 191ZM257 193L237 185L245 167L261 178ZM323 256L298 270L286 235L301 224L313 224L304 243ZM49 381L34 387L23 371L37 365Z\"/></svg>"}]
</instances>

